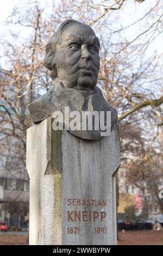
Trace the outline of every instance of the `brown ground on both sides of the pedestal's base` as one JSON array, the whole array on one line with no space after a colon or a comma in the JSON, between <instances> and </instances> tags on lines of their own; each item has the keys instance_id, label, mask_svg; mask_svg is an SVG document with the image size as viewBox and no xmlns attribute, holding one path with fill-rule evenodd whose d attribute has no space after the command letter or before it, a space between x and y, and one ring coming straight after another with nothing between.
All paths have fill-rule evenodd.
<instances>
[{"instance_id":1,"label":"brown ground on both sides of the pedestal's base","mask_svg":"<svg viewBox=\"0 0 163 256\"><path fill-rule=\"evenodd\" d=\"M163 230L119 232L118 239L118 245L163 245ZM1 232L0 245L27 245L27 233Z\"/></svg>"}]
</instances>

